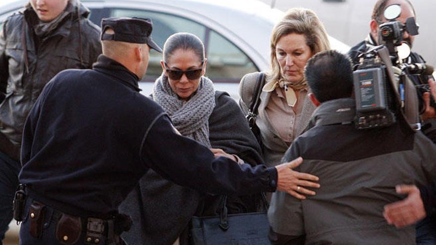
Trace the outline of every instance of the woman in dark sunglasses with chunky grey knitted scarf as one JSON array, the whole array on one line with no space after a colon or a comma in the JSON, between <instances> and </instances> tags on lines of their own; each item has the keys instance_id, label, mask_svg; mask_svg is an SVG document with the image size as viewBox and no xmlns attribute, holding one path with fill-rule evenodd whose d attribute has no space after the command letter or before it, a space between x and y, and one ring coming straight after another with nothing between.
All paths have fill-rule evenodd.
<instances>
[{"instance_id":1,"label":"woman in dark sunglasses with chunky grey knitted scarf","mask_svg":"<svg viewBox=\"0 0 436 245\"><path fill-rule=\"evenodd\" d=\"M155 82L153 99L180 134L210 147L217 157L229 157L235 164L263 162L238 104L227 93L215 91L213 82L204 76L207 61L198 37L189 33L170 36L163 46L163 73ZM137 219L124 239L130 245L168 245L176 240L188 244L191 217L217 215L219 200L219 196L177 186L149 171L120 207L120 212ZM260 195L227 197L228 212L256 211L259 201Z\"/></svg>"}]
</instances>

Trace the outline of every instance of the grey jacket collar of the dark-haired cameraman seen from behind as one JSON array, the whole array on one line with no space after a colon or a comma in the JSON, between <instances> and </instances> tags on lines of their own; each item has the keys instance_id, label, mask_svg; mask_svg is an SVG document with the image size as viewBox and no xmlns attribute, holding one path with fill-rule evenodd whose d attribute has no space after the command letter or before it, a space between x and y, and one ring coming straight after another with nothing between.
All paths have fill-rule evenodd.
<instances>
[{"instance_id":1,"label":"grey jacket collar of the dark-haired cameraman seen from behind","mask_svg":"<svg viewBox=\"0 0 436 245\"><path fill-rule=\"evenodd\" d=\"M356 116L356 102L353 98L338 98L321 103L312 115L315 126L349 124Z\"/></svg>"}]
</instances>

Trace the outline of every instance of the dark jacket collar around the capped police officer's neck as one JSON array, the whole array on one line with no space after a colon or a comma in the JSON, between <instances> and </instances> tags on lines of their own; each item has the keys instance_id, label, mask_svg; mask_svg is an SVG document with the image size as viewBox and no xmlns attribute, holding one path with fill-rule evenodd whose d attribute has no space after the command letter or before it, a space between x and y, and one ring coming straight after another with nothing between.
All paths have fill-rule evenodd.
<instances>
[{"instance_id":1,"label":"dark jacket collar around the capped police officer's neck","mask_svg":"<svg viewBox=\"0 0 436 245\"><path fill-rule=\"evenodd\" d=\"M136 74L129 71L122 64L103 54L100 54L97 62L93 64L92 68L93 70L105 73L106 75L115 78L122 84L137 92L141 91L138 85L139 78L136 76Z\"/></svg>"}]
</instances>

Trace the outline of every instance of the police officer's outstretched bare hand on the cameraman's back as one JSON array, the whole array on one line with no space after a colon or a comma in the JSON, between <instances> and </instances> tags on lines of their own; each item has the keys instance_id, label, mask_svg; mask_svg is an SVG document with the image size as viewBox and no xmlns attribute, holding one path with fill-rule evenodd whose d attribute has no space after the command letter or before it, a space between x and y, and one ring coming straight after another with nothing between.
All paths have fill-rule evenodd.
<instances>
[{"instance_id":1,"label":"police officer's outstretched bare hand on the cameraman's back","mask_svg":"<svg viewBox=\"0 0 436 245\"><path fill-rule=\"evenodd\" d=\"M320 184L314 183L313 181L318 181L319 178L315 175L299 173L292 170L303 162L303 158L298 157L297 159L282 163L275 166L277 169L277 191L287 192L289 195L297 197L298 199L306 199L305 195L314 196L316 193L310 191L305 187L320 188Z\"/></svg>"}]
</instances>

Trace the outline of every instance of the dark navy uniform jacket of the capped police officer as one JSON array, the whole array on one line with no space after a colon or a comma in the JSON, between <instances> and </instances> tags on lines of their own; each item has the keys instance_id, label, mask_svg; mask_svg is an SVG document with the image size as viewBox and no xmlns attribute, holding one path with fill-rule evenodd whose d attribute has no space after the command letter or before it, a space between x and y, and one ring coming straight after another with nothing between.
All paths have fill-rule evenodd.
<instances>
[{"instance_id":1,"label":"dark navy uniform jacket of the capped police officer","mask_svg":"<svg viewBox=\"0 0 436 245\"><path fill-rule=\"evenodd\" d=\"M44 88L26 121L19 180L29 195L76 216L116 212L149 169L214 194L274 191L277 172L239 165L180 136L138 77L101 55L92 70L66 70Z\"/></svg>"}]
</instances>

